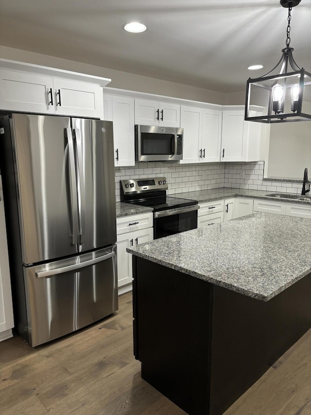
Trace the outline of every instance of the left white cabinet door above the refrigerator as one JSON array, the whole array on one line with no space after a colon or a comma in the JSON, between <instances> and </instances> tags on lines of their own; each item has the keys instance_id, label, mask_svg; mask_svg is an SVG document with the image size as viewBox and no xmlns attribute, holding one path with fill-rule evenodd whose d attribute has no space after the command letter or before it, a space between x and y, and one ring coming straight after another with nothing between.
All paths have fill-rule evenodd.
<instances>
[{"instance_id":1,"label":"left white cabinet door above the refrigerator","mask_svg":"<svg viewBox=\"0 0 311 415\"><path fill-rule=\"evenodd\" d=\"M52 78L0 70L0 109L55 114Z\"/></svg>"}]
</instances>

